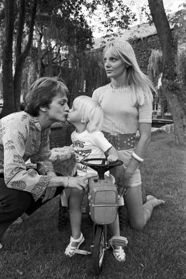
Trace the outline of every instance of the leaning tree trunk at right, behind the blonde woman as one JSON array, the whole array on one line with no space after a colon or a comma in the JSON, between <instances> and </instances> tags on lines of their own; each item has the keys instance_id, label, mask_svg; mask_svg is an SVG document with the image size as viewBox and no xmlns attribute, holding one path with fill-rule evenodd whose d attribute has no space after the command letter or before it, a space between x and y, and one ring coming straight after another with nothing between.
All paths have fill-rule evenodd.
<instances>
[{"instance_id":1,"label":"leaning tree trunk at right, behind the blonde woman","mask_svg":"<svg viewBox=\"0 0 186 279\"><path fill-rule=\"evenodd\" d=\"M186 143L185 85L177 78L177 42L167 20L163 0L148 0L150 12L156 26L163 54L162 87L174 122L177 144Z\"/></svg>"}]
</instances>

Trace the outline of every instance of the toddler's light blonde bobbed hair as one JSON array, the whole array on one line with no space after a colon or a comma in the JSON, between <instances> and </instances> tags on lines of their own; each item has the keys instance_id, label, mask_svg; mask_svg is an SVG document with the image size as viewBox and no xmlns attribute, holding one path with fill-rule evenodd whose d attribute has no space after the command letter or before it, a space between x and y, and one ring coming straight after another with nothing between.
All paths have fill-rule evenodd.
<instances>
[{"instance_id":1,"label":"toddler's light blonde bobbed hair","mask_svg":"<svg viewBox=\"0 0 186 279\"><path fill-rule=\"evenodd\" d=\"M88 96L78 96L73 101L81 121L86 124L89 133L101 131L103 128L103 110L100 104Z\"/></svg>"}]
</instances>

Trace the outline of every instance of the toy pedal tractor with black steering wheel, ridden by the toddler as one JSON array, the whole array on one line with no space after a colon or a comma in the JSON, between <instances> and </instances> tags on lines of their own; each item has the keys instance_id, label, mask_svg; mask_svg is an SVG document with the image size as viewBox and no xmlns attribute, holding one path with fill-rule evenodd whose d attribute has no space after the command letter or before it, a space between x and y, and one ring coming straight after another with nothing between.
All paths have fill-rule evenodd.
<instances>
[{"instance_id":1,"label":"toy pedal tractor with black steering wheel, ridden by the toddler","mask_svg":"<svg viewBox=\"0 0 186 279\"><path fill-rule=\"evenodd\" d=\"M94 163L96 162L96 164ZM98 161L101 161L98 164ZM88 180L89 191L87 195L86 206L82 206L82 213L88 213L94 222L93 245L89 251L75 250L77 254L92 255L93 269L96 274L100 274L103 267L104 252L111 245L127 246L128 240L123 236L113 236L107 243L107 225L116 220L118 213L118 192L114 181L105 175L109 169L122 165L123 162L116 160L107 163L106 158L84 159L82 164L95 169L98 177ZM65 205L65 206L64 206ZM120 206L123 208L123 205ZM68 205L61 204L59 201L59 230L65 227L65 213L68 212ZM122 211L120 211L122 212ZM123 218L123 217L122 217ZM119 218L122 220L122 218ZM112 241L112 243L110 243Z\"/></svg>"}]
</instances>

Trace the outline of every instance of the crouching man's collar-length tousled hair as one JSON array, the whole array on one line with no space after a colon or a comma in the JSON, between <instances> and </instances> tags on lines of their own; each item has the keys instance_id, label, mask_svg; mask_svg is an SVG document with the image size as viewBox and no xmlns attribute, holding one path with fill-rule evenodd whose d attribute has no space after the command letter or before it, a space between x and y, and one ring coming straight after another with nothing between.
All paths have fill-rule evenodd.
<instances>
[{"instance_id":1,"label":"crouching man's collar-length tousled hair","mask_svg":"<svg viewBox=\"0 0 186 279\"><path fill-rule=\"evenodd\" d=\"M44 77L36 80L25 96L25 112L32 116L39 116L40 107L49 109L52 99L60 95L69 96L69 89L59 78Z\"/></svg>"}]
</instances>

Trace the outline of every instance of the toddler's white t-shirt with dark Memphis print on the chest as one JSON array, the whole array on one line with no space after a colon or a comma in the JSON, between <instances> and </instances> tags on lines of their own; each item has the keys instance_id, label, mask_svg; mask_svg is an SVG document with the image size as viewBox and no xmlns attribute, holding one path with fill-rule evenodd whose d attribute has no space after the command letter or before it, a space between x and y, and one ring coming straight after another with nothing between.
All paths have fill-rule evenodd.
<instances>
[{"instance_id":1,"label":"toddler's white t-shirt with dark Memphis print on the chest","mask_svg":"<svg viewBox=\"0 0 186 279\"><path fill-rule=\"evenodd\" d=\"M71 134L73 149L75 151L77 175L85 176L87 173L97 173L96 170L80 163L83 159L105 158L104 152L112 147L106 140L104 134L100 131L89 133L85 130L82 133L74 131ZM101 161L93 161L92 163L101 164Z\"/></svg>"}]
</instances>

